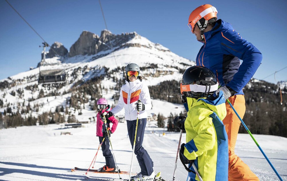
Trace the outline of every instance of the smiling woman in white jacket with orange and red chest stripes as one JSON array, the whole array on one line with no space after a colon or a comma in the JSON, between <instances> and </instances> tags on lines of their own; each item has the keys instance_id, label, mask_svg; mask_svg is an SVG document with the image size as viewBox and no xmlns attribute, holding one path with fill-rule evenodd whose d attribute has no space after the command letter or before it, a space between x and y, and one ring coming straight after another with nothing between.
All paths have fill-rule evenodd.
<instances>
[{"instance_id":1,"label":"smiling woman in white jacket with orange and red chest stripes","mask_svg":"<svg viewBox=\"0 0 287 181\"><path fill-rule=\"evenodd\" d=\"M148 86L142 82L139 76L139 66L135 63L130 63L125 68L127 79L121 87L120 98L117 106L113 108L106 116L110 117L123 108L125 108L125 120L127 120L127 130L131 145L133 146L135 137L135 128L137 121L137 111L139 111L139 121L137 126L137 139L135 143L135 155L141 172L136 176L131 177L131 180L149 180L155 177L153 170L153 161L147 151L142 147L144 140L144 130L146 128L147 113L146 110L152 108L150 93ZM141 100L142 102L137 102ZM106 113L104 113L106 114Z\"/></svg>"}]
</instances>

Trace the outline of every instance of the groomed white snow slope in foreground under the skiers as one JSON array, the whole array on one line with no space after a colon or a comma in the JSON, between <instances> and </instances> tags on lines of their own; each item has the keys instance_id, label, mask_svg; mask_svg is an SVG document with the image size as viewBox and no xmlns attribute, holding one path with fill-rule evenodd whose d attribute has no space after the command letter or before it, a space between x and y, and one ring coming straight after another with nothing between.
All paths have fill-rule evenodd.
<instances>
[{"instance_id":1,"label":"groomed white snow slope in foreground under the skiers","mask_svg":"<svg viewBox=\"0 0 287 181\"><path fill-rule=\"evenodd\" d=\"M25 126L0 130L0 180L85 180L85 172L70 172L73 167L88 168L98 147L96 123L84 124L82 128L64 128L63 125ZM60 135L71 132L72 135ZM166 180L172 180L174 161L179 133L166 132L154 128L148 123L143 147L154 161L155 172L162 172ZM287 179L287 138L269 135L254 135L273 165ZM126 123L119 123L112 134L116 161L121 170L129 171L132 147L127 137ZM182 141L185 142L185 134ZM239 134L235 152L245 161L260 180L278 180L275 173L253 143L248 134ZM95 168L105 164L101 150L98 153ZM139 172L139 165L134 159L133 172ZM187 172L179 162L176 180L184 181ZM96 174L118 178L117 174ZM128 175L121 175L127 178Z\"/></svg>"}]
</instances>

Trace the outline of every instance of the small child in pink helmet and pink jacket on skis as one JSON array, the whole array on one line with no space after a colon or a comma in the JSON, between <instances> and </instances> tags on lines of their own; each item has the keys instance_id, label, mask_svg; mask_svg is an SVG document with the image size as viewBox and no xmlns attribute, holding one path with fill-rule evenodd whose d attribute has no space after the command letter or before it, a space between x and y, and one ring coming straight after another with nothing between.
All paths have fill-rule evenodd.
<instances>
[{"instance_id":1,"label":"small child in pink helmet and pink jacket on skis","mask_svg":"<svg viewBox=\"0 0 287 181\"><path fill-rule=\"evenodd\" d=\"M113 158L113 155L110 151L110 142L108 139L108 133L106 131L106 126L104 124L104 118L101 117L101 114L103 112L108 113L110 111L110 107L108 105L108 101L104 98L100 98L97 101L97 107L98 107L98 114L97 114L97 136L99 137L100 143L102 143L103 139L105 138L103 144L102 144L102 152L104 157L106 158L106 165L98 169L98 172L117 172L115 161ZM109 118L106 118L107 121L107 127L109 134L115 132L118 120L114 118L114 116L110 116ZM112 128L110 128L110 122L113 123Z\"/></svg>"}]
</instances>

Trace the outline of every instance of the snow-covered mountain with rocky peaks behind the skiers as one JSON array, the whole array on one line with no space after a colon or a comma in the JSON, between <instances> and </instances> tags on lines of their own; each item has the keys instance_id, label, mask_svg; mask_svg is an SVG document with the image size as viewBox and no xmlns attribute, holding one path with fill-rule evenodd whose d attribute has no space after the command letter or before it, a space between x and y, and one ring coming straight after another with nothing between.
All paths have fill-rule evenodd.
<instances>
[{"instance_id":1,"label":"snow-covered mountain with rocky peaks behind the skiers","mask_svg":"<svg viewBox=\"0 0 287 181\"><path fill-rule=\"evenodd\" d=\"M51 49L54 50L51 51ZM96 90L94 92L100 95L96 97L103 96L109 100L110 105L113 105L115 104L113 97L119 91L118 84L124 78L123 68L128 63L137 63L141 67L140 74L149 86L165 80L180 80L182 72L187 67L195 65L193 61L172 53L168 48L153 43L136 32L114 35L103 30L98 36L84 31L71 46L69 53L63 55L63 52L66 52L65 47L58 42L55 42L51 49L46 52L46 57L49 58L45 61L54 63L53 65L39 66L0 80L0 100L2 101L0 112L9 112L7 115L18 112L23 118L29 116L38 118L44 112L59 111L59 107L63 106L64 110L68 110L65 111L66 114L61 115L67 115L68 112L69 115L75 115L79 121L86 121L94 114L94 111L90 114L89 111L94 105L95 96L77 94L77 97L83 96L87 100L78 101L77 108L72 108L69 101L79 91L77 88L91 84L95 86L94 88L97 86L98 92ZM62 53L59 53L59 49ZM56 54L63 56L52 57ZM65 68L68 74L66 84L55 86L38 84L39 71L59 68ZM95 82L91 80L99 77L100 81L94 85ZM155 104L166 104L170 108L168 112L162 110L165 116L170 112L183 111L181 105L160 100L153 101ZM159 112L161 112L160 109L150 111L156 114Z\"/></svg>"}]
</instances>

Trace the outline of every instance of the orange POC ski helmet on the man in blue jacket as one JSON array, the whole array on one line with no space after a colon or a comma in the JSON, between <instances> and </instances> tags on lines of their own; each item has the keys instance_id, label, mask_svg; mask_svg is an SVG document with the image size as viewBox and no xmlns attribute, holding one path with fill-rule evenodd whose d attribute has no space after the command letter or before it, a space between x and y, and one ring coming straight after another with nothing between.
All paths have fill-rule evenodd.
<instances>
[{"instance_id":1,"label":"orange POC ski helmet on the man in blue jacket","mask_svg":"<svg viewBox=\"0 0 287 181\"><path fill-rule=\"evenodd\" d=\"M208 20L212 18L215 18L215 20L217 19L216 14L217 10L214 6L210 4L201 5L191 12L188 18L187 25L189 26L191 32L193 32L195 24L197 24L199 26L199 29L202 30L203 34L203 30L207 27ZM204 18L205 21L201 24L199 20L201 20L202 18Z\"/></svg>"}]
</instances>

